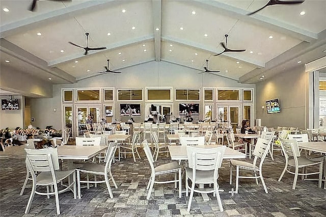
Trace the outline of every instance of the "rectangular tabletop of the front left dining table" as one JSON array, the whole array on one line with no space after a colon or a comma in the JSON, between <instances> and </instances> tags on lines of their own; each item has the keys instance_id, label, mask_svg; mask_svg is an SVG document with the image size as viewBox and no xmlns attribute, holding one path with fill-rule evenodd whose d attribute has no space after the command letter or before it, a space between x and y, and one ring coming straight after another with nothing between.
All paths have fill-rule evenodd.
<instances>
[{"instance_id":1,"label":"rectangular tabletop of the front left dining table","mask_svg":"<svg viewBox=\"0 0 326 217\"><path fill-rule=\"evenodd\" d=\"M88 160L97 154L104 152L107 146L58 146L59 159Z\"/></svg>"}]
</instances>

